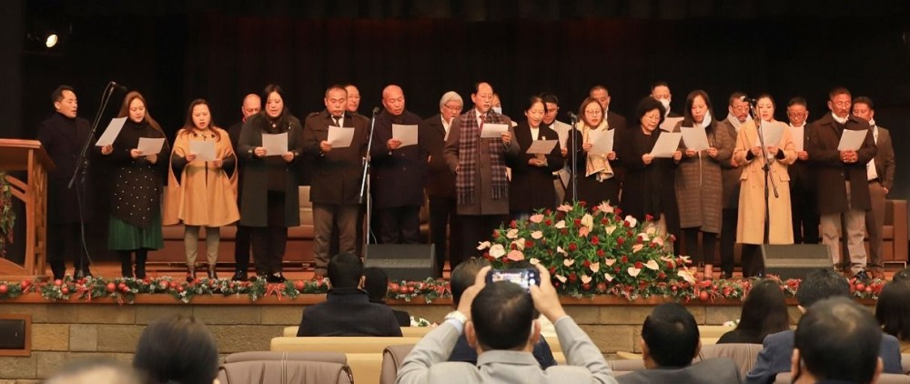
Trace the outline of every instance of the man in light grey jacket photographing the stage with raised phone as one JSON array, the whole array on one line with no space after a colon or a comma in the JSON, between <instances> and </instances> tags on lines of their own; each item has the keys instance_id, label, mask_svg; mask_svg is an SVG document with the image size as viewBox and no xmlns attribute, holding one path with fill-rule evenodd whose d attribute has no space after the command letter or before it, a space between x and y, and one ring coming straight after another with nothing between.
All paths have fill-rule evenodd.
<instances>
[{"instance_id":1,"label":"man in light grey jacket photographing the stage with raised phone","mask_svg":"<svg viewBox=\"0 0 910 384\"><path fill-rule=\"evenodd\" d=\"M531 286L530 294L510 281L486 284L490 267L481 268L474 285L461 292L458 310L420 339L401 363L397 382L615 383L600 349L562 308L550 271L535 267L541 286ZM541 335L535 308L555 325L570 366L541 369L531 355ZM462 331L478 352L477 365L445 361Z\"/></svg>"}]
</instances>

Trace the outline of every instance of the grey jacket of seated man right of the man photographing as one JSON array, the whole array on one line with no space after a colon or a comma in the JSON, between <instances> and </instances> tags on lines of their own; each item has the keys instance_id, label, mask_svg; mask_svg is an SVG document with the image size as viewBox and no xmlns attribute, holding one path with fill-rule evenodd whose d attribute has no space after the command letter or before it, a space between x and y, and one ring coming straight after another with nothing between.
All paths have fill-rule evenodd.
<instances>
[{"instance_id":1,"label":"grey jacket of seated man right of the man photographing","mask_svg":"<svg viewBox=\"0 0 910 384\"><path fill-rule=\"evenodd\" d=\"M620 384L735 384L743 382L736 363L729 358L706 359L679 369L644 369L616 378Z\"/></svg>"}]
</instances>

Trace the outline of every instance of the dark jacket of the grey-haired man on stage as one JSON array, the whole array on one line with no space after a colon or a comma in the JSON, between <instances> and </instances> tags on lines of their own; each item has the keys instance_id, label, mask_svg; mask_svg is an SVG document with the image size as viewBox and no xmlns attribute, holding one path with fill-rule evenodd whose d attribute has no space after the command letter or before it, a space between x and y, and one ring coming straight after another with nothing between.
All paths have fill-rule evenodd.
<instances>
[{"instance_id":1,"label":"dark jacket of the grey-haired man on stage","mask_svg":"<svg viewBox=\"0 0 910 384\"><path fill-rule=\"evenodd\" d=\"M454 123L455 119L452 119ZM446 127L442 116L432 116L420 123L420 142L430 153L427 169L427 195L455 198L455 174L446 164L442 149L446 147Z\"/></svg>"}]
</instances>

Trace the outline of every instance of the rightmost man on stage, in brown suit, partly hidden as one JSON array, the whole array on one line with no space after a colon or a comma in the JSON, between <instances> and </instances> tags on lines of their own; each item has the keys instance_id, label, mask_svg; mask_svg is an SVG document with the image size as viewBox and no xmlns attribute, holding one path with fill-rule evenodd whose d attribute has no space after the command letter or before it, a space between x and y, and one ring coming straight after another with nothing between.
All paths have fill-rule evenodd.
<instances>
[{"instance_id":1,"label":"rightmost man on stage, in brown suit, partly hidden","mask_svg":"<svg viewBox=\"0 0 910 384\"><path fill-rule=\"evenodd\" d=\"M869 122L872 127L872 138L878 153L866 165L866 178L869 180L869 197L872 210L865 212L865 229L869 234L869 250L872 253L867 268L872 278L885 278L885 266L882 264L882 232L885 230L885 197L895 185L895 147L891 144L891 133L875 124L875 106L872 99L865 96L856 97L853 114Z\"/></svg>"}]
</instances>

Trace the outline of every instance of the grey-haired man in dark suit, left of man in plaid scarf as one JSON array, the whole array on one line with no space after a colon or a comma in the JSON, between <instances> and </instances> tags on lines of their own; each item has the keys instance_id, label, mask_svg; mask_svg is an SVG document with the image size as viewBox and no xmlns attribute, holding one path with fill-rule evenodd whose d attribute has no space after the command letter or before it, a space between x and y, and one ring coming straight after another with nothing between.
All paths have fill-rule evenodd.
<instances>
[{"instance_id":1,"label":"grey-haired man in dark suit, left of man in plaid scarf","mask_svg":"<svg viewBox=\"0 0 910 384\"><path fill-rule=\"evenodd\" d=\"M456 215L455 174L446 165L442 148L449 137L452 119L461 113L464 102L459 94L449 91L440 99L440 113L420 123L420 141L430 153L426 191L430 198L430 243L436 245L436 275L442 276L442 268L449 258L449 266L455 269L461 262L461 222ZM448 247L446 227L449 227Z\"/></svg>"}]
</instances>

